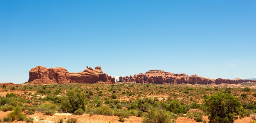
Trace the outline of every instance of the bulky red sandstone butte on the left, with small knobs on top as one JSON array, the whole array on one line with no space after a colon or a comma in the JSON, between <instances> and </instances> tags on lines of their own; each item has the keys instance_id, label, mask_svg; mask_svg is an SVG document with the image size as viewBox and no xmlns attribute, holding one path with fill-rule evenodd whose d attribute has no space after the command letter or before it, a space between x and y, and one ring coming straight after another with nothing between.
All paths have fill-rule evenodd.
<instances>
[{"instance_id":1,"label":"bulky red sandstone butte on the left, with small knobs on top","mask_svg":"<svg viewBox=\"0 0 256 123\"><path fill-rule=\"evenodd\" d=\"M87 67L84 71L78 73L69 73L63 67L49 68L37 66L29 71L29 81L33 83L95 83L115 82L115 78L109 77L103 73L101 67Z\"/></svg>"}]
</instances>

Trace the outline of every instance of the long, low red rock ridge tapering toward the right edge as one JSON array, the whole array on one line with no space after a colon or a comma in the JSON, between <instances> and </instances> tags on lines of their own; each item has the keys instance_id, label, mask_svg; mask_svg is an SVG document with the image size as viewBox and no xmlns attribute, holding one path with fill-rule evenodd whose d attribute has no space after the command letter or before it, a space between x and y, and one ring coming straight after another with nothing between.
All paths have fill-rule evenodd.
<instances>
[{"instance_id":1,"label":"long, low red rock ridge tapering toward the right edge","mask_svg":"<svg viewBox=\"0 0 256 123\"><path fill-rule=\"evenodd\" d=\"M210 78L204 78L198 75L187 76L185 73L170 73L161 70L150 70L145 74L139 73L134 76L130 76L126 82L136 83L155 83L155 84L239 84L242 82L256 82L256 80L242 80L242 79L222 79L216 80Z\"/></svg>"}]
</instances>

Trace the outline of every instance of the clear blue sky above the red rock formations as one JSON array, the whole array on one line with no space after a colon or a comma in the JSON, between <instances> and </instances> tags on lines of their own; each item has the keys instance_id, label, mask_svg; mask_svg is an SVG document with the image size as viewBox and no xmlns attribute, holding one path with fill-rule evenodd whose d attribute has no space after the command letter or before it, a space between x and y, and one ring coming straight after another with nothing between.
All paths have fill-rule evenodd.
<instances>
[{"instance_id":1,"label":"clear blue sky above the red rock formations","mask_svg":"<svg viewBox=\"0 0 256 123\"><path fill-rule=\"evenodd\" d=\"M256 0L0 0L0 82L38 65L256 78Z\"/></svg>"}]
</instances>

